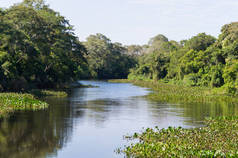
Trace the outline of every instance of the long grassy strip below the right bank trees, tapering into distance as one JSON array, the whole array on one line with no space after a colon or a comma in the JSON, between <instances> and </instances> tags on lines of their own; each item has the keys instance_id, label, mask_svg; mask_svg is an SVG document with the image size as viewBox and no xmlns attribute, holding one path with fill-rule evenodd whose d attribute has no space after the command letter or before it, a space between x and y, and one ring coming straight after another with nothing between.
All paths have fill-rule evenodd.
<instances>
[{"instance_id":1,"label":"long grassy strip below the right bank trees, tapering into distance","mask_svg":"<svg viewBox=\"0 0 238 158\"><path fill-rule=\"evenodd\" d=\"M133 83L134 85L147 87L154 90L147 97L166 103L211 103L226 102L238 103L238 98L228 94L220 93L217 89L206 87L182 86L160 81L141 81L141 80L109 80L117 83Z\"/></svg>"}]
</instances>

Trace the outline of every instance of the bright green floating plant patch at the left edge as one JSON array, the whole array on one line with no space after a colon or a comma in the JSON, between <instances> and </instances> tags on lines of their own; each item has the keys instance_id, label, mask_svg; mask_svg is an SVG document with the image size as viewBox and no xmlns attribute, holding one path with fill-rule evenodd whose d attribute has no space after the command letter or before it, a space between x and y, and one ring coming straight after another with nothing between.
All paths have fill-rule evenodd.
<instances>
[{"instance_id":1,"label":"bright green floating plant patch at the left edge","mask_svg":"<svg viewBox=\"0 0 238 158\"><path fill-rule=\"evenodd\" d=\"M0 117L14 111L41 110L48 107L48 104L37 100L31 94L0 93Z\"/></svg>"}]
</instances>

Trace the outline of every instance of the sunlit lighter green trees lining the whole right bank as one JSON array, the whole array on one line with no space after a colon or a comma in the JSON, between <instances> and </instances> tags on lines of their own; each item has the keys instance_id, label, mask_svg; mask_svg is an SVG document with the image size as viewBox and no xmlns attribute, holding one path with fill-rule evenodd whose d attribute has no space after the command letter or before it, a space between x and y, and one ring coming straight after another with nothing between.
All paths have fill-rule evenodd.
<instances>
[{"instance_id":1,"label":"sunlit lighter green trees lining the whole right bank","mask_svg":"<svg viewBox=\"0 0 238 158\"><path fill-rule=\"evenodd\" d=\"M200 33L176 42L157 35L138 49L141 55L129 79L221 87L222 93L238 89L238 23L223 26L218 39Z\"/></svg>"}]
</instances>

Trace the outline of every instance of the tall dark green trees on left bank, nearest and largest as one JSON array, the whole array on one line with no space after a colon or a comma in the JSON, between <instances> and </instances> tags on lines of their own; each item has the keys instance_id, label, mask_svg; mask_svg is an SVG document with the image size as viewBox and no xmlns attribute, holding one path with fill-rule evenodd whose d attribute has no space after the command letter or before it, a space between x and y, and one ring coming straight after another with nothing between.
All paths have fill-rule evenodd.
<instances>
[{"instance_id":1,"label":"tall dark green trees on left bank, nearest and largest","mask_svg":"<svg viewBox=\"0 0 238 158\"><path fill-rule=\"evenodd\" d=\"M2 12L2 90L55 88L88 76L84 46L68 20L43 0L25 0Z\"/></svg>"}]
</instances>

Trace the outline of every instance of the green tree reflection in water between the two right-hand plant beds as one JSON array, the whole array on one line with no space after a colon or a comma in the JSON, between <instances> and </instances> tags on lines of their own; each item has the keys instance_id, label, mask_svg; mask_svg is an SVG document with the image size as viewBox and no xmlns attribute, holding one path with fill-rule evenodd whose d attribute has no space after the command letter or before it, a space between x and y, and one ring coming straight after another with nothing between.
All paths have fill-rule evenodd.
<instances>
[{"instance_id":1,"label":"green tree reflection in water between the two right-hand plant beds","mask_svg":"<svg viewBox=\"0 0 238 158\"><path fill-rule=\"evenodd\" d=\"M161 121L163 118L169 117L169 115L177 115L185 118L183 121L186 125L200 126L203 125L203 121L208 117L238 115L238 106L229 102L180 103L171 101L170 103L162 103L148 101L148 109L153 114L154 121Z\"/></svg>"}]
</instances>

